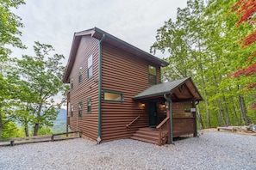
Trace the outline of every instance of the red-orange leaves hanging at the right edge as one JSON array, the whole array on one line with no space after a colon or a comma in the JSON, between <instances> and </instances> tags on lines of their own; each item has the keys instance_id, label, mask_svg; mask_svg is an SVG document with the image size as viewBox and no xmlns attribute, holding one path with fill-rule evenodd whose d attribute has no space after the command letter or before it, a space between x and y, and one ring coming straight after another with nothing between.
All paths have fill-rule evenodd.
<instances>
[{"instance_id":1,"label":"red-orange leaves hanging at the right edge","mask_svg":"<svg viewBox=\"0 0 256 170\"><path fill-rule=\"evenodd\" d=\"M256 1L254 0L239 0L232 7L232 12L240 16L240 19L236 22L236 26L240 27L240 25L247 23L249 26L253 27L256 21ZM252 46L256 41L256 29L252 31L252 33L247 34L245 38L240 40L241 47L246 48L248 46ZM256 51L253 51L248 60L247 66L245 68L240 67L238 71L234 72L233 77L239 76L251 76L255 80L256 76L256 61L255 61ZM247 85L247 89L255 89L256 83L251 82ZM254 101L252 109L256 109L256 102Z\"/></svg>"}]
</instances>

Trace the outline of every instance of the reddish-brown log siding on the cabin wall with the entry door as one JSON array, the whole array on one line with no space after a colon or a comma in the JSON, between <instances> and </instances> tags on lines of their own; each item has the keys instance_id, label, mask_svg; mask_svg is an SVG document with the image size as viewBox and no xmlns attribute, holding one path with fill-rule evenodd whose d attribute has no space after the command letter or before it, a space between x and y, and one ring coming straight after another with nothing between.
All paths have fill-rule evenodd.
<instances>
[{"instance_id":1,"label":"reddish-brown log siding on the cabin wall with the entry door","mask_svg":"<svg viewBox=\"0 0 256 170\"><path fill-rule=\"evenodd\" d=\"M122 92L124 97L123 102L102 102L103 141L131 137L136 129L148 126L147 103L141 109L140 103L134 102L132 97L151 86L148 83L149 64L128 52L103 44L103 90ZM160 82L159 66L157 82ZM128 131L126 124L139 115L140 118L130 127L134 131Z\"/></svg>"}]
</instances>

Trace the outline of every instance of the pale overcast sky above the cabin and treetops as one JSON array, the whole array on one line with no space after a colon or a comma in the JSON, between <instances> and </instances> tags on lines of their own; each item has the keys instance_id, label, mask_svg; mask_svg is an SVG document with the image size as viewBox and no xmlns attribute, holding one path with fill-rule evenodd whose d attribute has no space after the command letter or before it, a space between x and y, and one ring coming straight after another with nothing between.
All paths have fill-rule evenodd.
<instances>
[{"instance_id":1,"label":"pale overcast sky above the cabin and treetops","mask_svg":"<svg viewBox=\"0 0 256 170\"><path fill-rule=\"evenodd\" d=\"M177 9L187 0L25 0L12 11L22 18L22 43L26 50L12 49L11 57L34 56L34 41L52 45L67 64L73 34L98 27L129 44L149 52L157 29L175 21ZM163 58L158 52L155 56ZM55 100L61 100L57 96Z\"/></svg>"}]
</instances>

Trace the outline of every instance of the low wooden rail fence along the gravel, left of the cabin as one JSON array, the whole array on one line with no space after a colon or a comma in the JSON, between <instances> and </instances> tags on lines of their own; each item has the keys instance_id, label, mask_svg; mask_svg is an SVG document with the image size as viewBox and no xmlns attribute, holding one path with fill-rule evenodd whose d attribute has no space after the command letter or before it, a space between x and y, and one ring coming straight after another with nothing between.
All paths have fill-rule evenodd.
<instances>
[{"instance_id":1,"label":"low wooden rail fence along the gravel, left of the cabin","mask_svg":"<svg viewBox=\"0 0 256 170\"><path fill-rule=\"evenodd\" d=\"M72 139L76 137L60 137L68 134L76 133L78 134L77 137L82 137L82 131L69 131L64 133L57 133L52 135L45 135L45 136L31 136L31 137L12 137L9 139L5 139L2 142L9 142L10 146L14 146L16 143L40 143L40 142L48 142L48 141L59 141L59 140L66 140L66 139ZM17 143L17 144L18 144Z\"/></svg>"}]
</instances>

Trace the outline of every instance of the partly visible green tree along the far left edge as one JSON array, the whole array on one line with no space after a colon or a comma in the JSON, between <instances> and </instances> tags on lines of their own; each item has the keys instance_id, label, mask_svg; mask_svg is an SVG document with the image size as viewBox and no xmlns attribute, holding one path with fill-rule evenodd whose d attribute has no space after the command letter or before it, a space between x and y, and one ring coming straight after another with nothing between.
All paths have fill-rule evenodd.
<instances>
[{"instance_id":1,"label":"partly visible green tree along the far left edge","mask_svg":"<svg viewBox=\"0 0 256 170\"><path fill-rule=\"evenodd\" d=\"M9 62L10 49L6 46L14 46L18 48L25 48L22 45L21 39L18 37L22 35L19 27L22 26L22 19L10 11L11 8L18 8L25 4L23 0L0 0L0 137L2 137L4 125L8 125L12 120L9 114L12 112L10 107L11 100L16 97L14 91L16 86L9 79L7 73L11 70Z\"/></svg>"}]
</instances>

